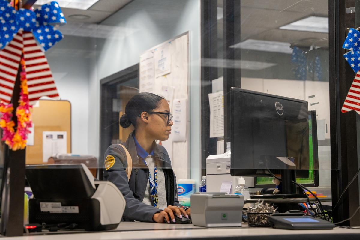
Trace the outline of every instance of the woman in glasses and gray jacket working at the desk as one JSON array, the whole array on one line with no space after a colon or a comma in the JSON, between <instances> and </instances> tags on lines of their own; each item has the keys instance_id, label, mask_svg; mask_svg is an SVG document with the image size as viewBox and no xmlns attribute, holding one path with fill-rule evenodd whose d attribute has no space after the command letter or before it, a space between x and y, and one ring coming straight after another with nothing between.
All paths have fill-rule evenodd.
<instances>
[{"instance_id":1,"label":"woman in glasses and gray jacket working at the desk","mask_svg":"<svg viewBox=\"0 0 360 240\"><path fill-rule=\"evenodd\" d=\"M172 115L167 101L156 94L141 92L126 104L120 125L135 130L123 145L132 159L127 169L126 150L113 144L105 152L104 179L113 182L126 199L124 221L175 222L190 216L190 207L176 198L176 178L166 149L155 139L165 141L171 133ZM130 178L127 171L131 171Z\"/></svg>"}]
</instances>

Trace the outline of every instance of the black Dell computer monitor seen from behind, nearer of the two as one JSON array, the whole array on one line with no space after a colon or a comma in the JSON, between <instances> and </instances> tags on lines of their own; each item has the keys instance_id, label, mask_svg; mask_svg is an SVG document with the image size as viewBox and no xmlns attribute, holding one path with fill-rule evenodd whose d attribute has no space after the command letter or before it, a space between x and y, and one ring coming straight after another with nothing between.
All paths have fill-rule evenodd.
<instances>
[{"instance_id":1,"label":"black Dell computer monitor seen from behind, nearer of the two","mask_svg":"<svg viewBox=\"0 0 360 240\"><path fill-rule=\"evenodd\" d=\"M291 180L309 177L309 115L304 100L232 87L230 90L233 176L281 174L283 192Z\"/></svg>"}]
</instances>

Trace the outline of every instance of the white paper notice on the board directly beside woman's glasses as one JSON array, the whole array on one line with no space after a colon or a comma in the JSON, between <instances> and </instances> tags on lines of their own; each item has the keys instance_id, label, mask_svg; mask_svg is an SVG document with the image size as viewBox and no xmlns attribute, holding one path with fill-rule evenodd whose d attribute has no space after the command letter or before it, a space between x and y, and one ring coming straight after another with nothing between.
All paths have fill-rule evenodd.
<instances>
[{"instance_id":1,"label":"white paper notice on the board directly beside woman's glasses","mask_svg":"<svg viewBox=\"0 0 360 240\"><path fill-rule=\"evenodd\" d=\"M174 134L173 141L185 142L187 124L186 99L174 99L172 109L172 114L174 115L172 118L172 122L174 122L174 125L172 126L172 133Z\"/></svg>"}]
</instances>

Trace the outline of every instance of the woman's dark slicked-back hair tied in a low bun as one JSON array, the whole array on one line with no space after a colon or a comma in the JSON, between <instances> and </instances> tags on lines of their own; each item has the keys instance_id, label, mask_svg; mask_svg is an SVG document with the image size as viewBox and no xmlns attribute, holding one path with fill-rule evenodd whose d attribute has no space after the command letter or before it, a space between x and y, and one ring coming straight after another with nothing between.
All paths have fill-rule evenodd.
<instances>
[{"instance_id":1,"label":"woman's dark slicked-back hair tied in a low bun","mask_svg":"<svg viewBox=\"0 0 360 240\"><path fill-rule=\"evenodd\" d=\"M140 114L157 108L162 99L164 98L150 92L140 92L132 96L126 104L125 113L120 117L120 126L127 128L132 124L136 128Z\"/></svg>"}]
</instances>

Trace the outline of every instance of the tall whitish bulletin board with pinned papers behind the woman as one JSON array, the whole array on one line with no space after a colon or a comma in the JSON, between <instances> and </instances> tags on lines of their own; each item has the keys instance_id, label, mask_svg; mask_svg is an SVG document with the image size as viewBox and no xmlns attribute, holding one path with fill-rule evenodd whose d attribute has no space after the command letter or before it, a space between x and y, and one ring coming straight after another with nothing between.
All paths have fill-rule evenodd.
<instances>
[{"instance_id":1,"label":"tall whitish bulletin board with pinned papers behind the woman","mask_svg":"<svg viewBox=\"0 0 360 240\"><path fill-rule=\"evenodd\" d=\"M140 55L139 89L163 96L173 114L172 131L161 142L178 179L189 178L189 34L185 32ZM184 153L184 154L174 154Z\"/></svg>"}]
</instances>

